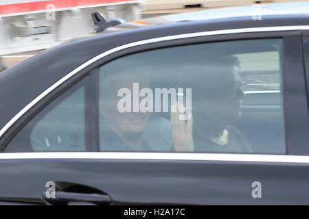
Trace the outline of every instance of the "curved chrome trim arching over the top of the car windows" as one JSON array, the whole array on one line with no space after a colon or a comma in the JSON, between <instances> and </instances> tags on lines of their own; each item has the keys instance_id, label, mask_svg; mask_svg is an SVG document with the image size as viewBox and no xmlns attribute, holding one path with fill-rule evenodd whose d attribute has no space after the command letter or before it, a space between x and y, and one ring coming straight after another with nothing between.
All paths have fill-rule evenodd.
<instances>
[{"instance_id":1,"label":"curved chrome trim arching over the top of the car windows","mask_svg":"<svg viewBox=\"0 0 309 219\"><path fill-rule=\"evenodd\" d=\"M84 62L84 64L78 66L78 68L75 68L70 73L65 75L65 77L62 77L56 83L54 83L52 86L47 88L44 92L36 96L35 99L33 99L30 103L28 103L23 109L16 114L13 118L10 119L8 123L6 123L2 129L0 130L0 138L2 138L3 134L10 129L10 127L16 123L25 112L30 110L36 103L41 101L47 94L52 92L52 90L56 89L58 86L60 86L62 83L67 81L69 78L73 77L73 75L76 75L76 73L80 72L80 70L86 68L90 64L93 64L93 62L96 62L100 60L102 57L105 57L107 55L110 55L112 53L115 53L117 51L121 51L123 49L128 49L130 47L137 47L143 44L149 44L153 42L162 42L162 41L168 41L168 40L177 40L182 38L194 38L194 37L201 37L201 36L216 36L216 35L225 35L225 34L242 34L242 33L252 33L252 32L265 32L265 31L294 31L294 30L309 30L309 25L295 25L295 26L279 26L279 27L249 27L249 28L240 28L240 29L222 29L222 30L214 30L214 31L203 31L203 32L196 32L196 33L190 33L190 34L178 34L178 35L172 35L172 36L163 36L159 38L150 38L147 40L140 40L137 42L130 42L128 44L123 44L119 47L115 47L113 49L110 49L108 51L105 51L104 53L101 53L100 55L97 55L87 62Z\"/></svg>"}]
</instances>

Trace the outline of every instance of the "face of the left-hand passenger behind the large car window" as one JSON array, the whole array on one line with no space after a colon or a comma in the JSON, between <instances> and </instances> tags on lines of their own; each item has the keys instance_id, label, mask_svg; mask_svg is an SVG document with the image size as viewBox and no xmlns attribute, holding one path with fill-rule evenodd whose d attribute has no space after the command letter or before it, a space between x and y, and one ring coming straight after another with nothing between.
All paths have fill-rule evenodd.
<instances>
[{"instance_id":1,"label":"face of the left-hand passenger behind the large car window","mask_svg":"<svg viewBox=\"0 0 309 219\"><path fill-rule=\"evenodd\" d=\"M105 121L108 121L108 126L111 126L114 131L121 131L123 133L142 133L149 120L149 113L141 112L124 112L117 110L117 103L121 97L117 97L117 92L120 88L128 88L133 97L133 83L139 83L139 90L146 86L146 83L141 79L139 74L128 74L124 77L117 77L109 82L108 86L111 88L108 101L102 101L101 110ZM104 103L105 102L105 103ZM133 101L131 105L133 106ZM138 104L138 103L137 103ZM135 106L138 107L138 106Z\"/></svg>"}]
</instances>

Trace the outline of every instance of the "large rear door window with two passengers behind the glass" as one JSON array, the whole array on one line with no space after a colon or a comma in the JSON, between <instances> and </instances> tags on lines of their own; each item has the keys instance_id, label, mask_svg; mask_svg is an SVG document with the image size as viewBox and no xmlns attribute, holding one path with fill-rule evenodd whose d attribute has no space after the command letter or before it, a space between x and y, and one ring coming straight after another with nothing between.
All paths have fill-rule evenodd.
<instances>
[{"instance_id":1,"label":"large rear door window with two passengers behind the glass","mask_svg":"<svg viewBox=\"0 0 309 219\"><path fill-rule=\"evenodd\" d=\"M286 153L281 39L144 51L99 74L100 151Z\"/></svg>"}]
</instances>

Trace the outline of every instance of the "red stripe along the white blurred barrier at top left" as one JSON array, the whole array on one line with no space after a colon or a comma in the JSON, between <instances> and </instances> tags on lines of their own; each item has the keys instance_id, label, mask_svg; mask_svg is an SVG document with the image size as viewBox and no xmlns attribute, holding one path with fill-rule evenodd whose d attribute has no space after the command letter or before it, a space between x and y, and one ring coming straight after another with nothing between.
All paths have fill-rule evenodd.
<instances>
[{"instance_id":1,"label":"red stripe along the white blurred barrier at top left","mask_svg":"<svg viewBox=\"0 0 309 219\"><path fill-rule=\"evenodd\" d=\"M50 0L50 1L38 1L30 3L19 3L12 5L0 5L0 14L14 14L22 12L33 12L46 10L46 5L53 3L56 9L71 8L86 5L98 5L104 3L115 3L123 0ZM128 1L128 0L127 0Z\"/></svg>"}]
</instances>

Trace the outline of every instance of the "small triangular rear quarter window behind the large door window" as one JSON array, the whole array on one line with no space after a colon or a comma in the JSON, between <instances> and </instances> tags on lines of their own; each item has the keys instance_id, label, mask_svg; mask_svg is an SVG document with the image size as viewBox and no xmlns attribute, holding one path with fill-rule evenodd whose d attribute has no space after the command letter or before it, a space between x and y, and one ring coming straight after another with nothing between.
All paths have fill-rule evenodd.
<instances>
[{"instance_id":1,"label":"small triangular rear quarter window behind the large door window","mask_svg":"<svg viewBox=\"0 0 309 219\"><path fill-rule=\"evenodd\" d=\"M87 151L88 81L86 77L49 103L19 131L4 152Z\"/></svg>"}]
</instances>

